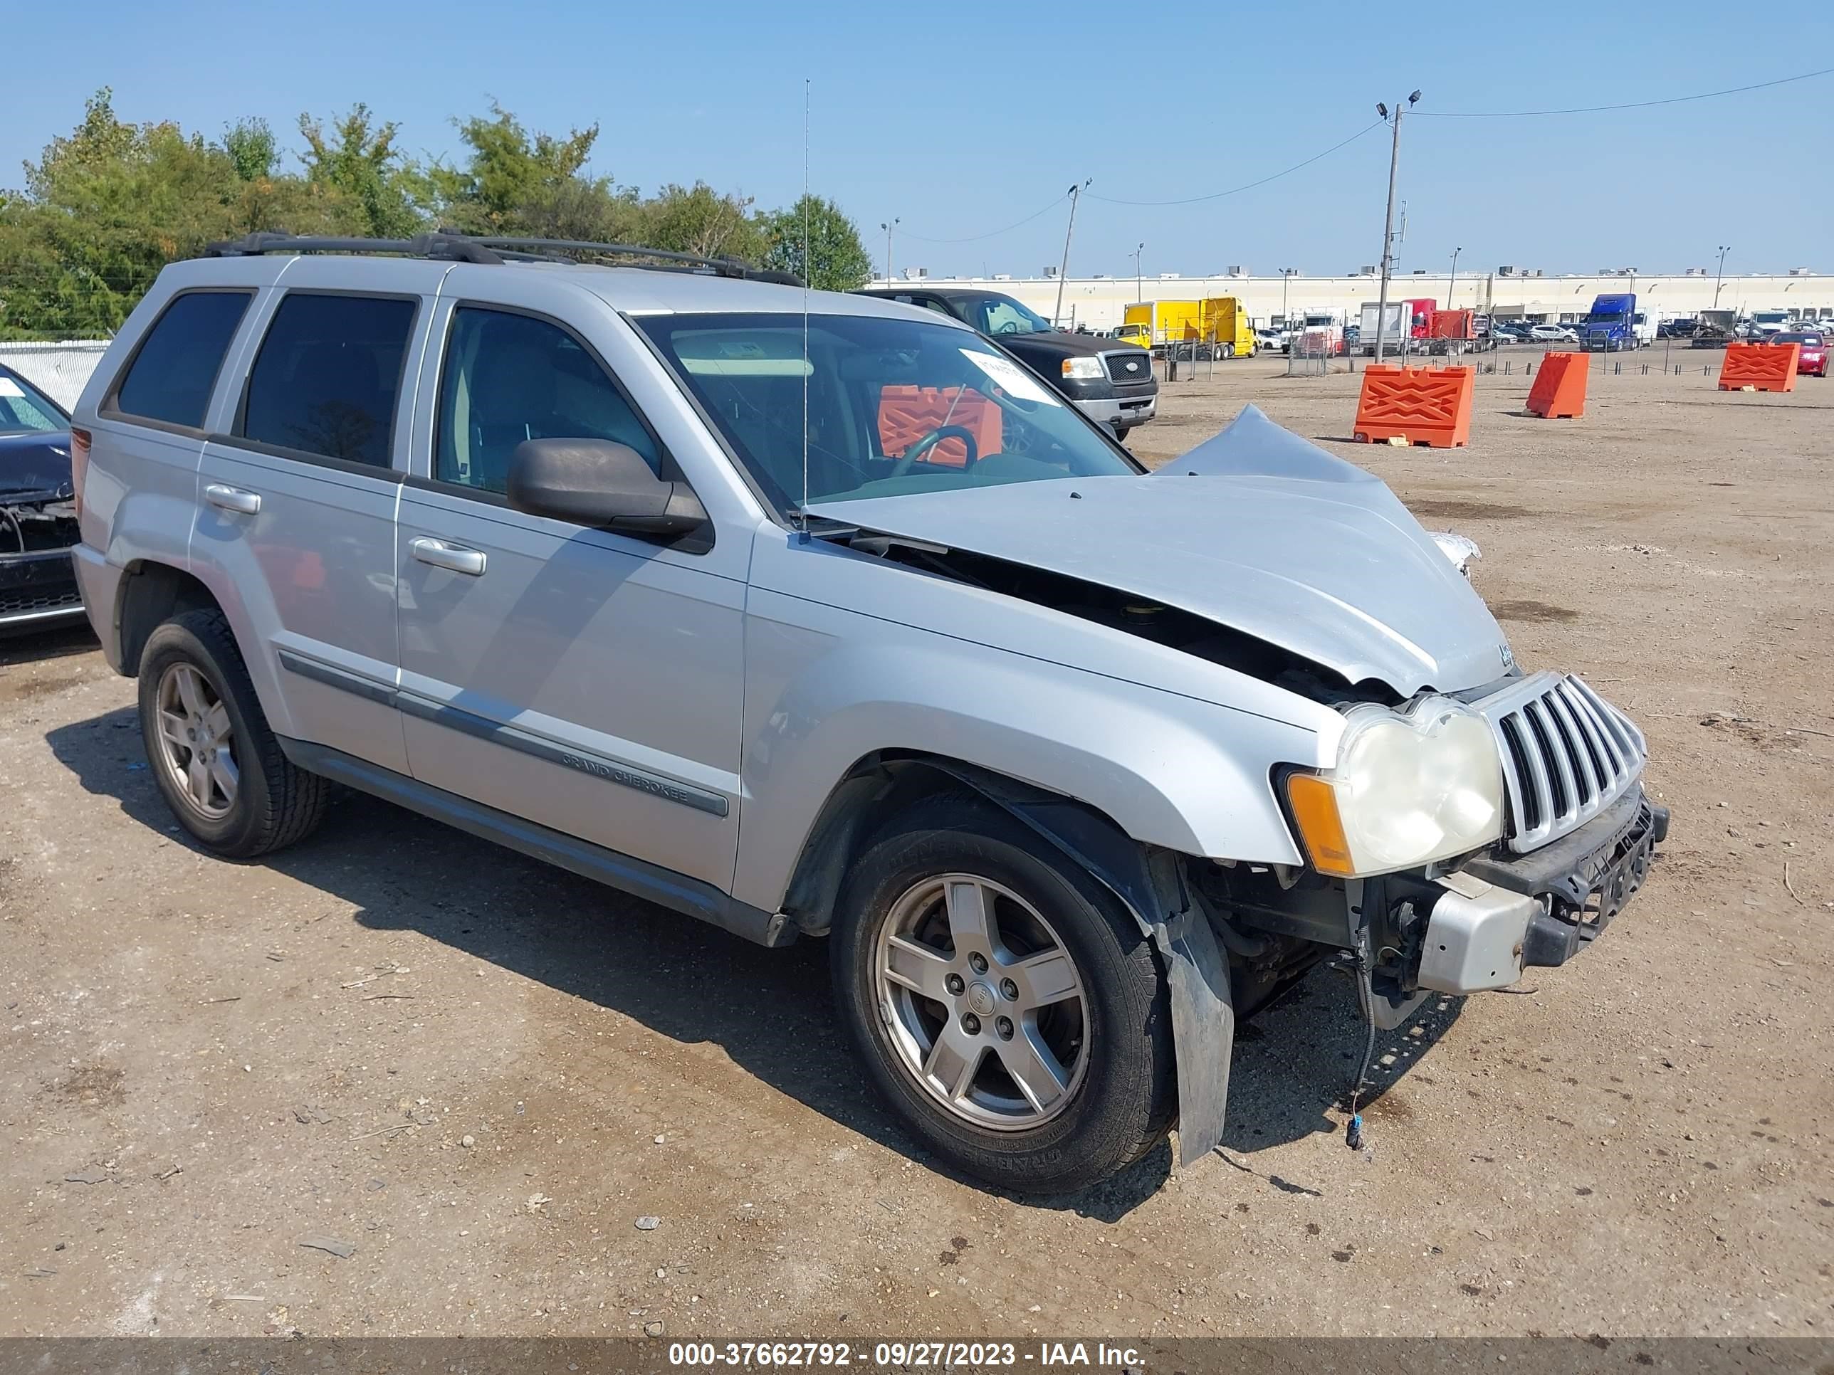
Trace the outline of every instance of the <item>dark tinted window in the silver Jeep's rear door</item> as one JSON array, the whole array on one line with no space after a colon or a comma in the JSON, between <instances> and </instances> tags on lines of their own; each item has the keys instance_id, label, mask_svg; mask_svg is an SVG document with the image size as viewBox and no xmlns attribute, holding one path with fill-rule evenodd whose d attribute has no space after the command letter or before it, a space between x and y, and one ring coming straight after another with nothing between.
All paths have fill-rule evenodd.
<instances>
[{"instance_id":1,"label":"dark tinted window in the silver Jeep's rear door","mask_svg":"<svg viewBox=\"0 0 1834 1375\"><path fill-rule=\"evenodd\" d=\"M387 468L416 306L381 297L288 295L249 372L238 433L282 449Z\"/></svg>"}]
</instances>

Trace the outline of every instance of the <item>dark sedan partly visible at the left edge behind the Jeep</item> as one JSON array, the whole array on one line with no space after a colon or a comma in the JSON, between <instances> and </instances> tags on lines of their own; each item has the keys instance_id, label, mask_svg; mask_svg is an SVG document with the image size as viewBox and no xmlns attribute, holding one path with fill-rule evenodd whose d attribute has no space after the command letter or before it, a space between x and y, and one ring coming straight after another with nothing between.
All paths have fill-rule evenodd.
<instances>
[{"instance_id":1,"label":"dark sedan partly visible at the left edge behind the Jeep","mask_svg":"<svg viewBox=\"0 0 1834 1375\"><path fill-rule=\"evenodd\" d=\"M0 365L0 634L83 618L70 414Z\"/></svg>"}]
</instances>

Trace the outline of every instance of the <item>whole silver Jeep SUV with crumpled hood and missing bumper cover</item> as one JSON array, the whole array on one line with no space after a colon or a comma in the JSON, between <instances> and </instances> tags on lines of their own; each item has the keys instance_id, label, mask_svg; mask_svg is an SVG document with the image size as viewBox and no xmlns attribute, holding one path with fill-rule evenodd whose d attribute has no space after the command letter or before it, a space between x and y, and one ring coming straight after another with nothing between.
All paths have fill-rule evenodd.
<instances>
[{"instance_id":1,"label":"whole silver Jeep SUV with crumpled hood and missing bumper cover","mask_svg":"<svg viewBox=\"0 0 1834 1375\"><path fill-rule=\"evenodd\" d=\"M910 1129L1040 1192L1209 1151L1320 959L1392 1027L1641 884L1643 737L1368 473L1247 412L1148 475L935 312L581 248L257 236L121 330L75 565L207 849L343 783L829 935Z\"/></svg>"}]
</instances>

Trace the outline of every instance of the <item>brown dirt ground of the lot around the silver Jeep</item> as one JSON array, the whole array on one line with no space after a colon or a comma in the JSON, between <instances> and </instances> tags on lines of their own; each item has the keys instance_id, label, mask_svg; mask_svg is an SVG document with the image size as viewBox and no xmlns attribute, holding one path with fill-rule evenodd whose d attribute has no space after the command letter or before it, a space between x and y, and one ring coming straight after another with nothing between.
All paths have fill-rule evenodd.
<instances>
[{"instance_id":1,"label":"brown dirt ground of the lot around the silver Jeep","mask_svg":"<svg viewBox=\"0 0 1834 1375\"><path fill-rule=\"evenodd\" d=\"M37 636L0 644L0 1335L1827 1335L1834 383L1638 356L1544 422L1509 358L1467 449L1348 444L1357 380L1276 359L1168 385L1135 446L1254 402L1374 468L1674 808L1577 962L1383 1038L1368 1153L1319 974L1238 1040L1223 1151L983 1192L867 1098L820 942L369 799L207 858L132 684Z\"/></svg>"}]
</instances>

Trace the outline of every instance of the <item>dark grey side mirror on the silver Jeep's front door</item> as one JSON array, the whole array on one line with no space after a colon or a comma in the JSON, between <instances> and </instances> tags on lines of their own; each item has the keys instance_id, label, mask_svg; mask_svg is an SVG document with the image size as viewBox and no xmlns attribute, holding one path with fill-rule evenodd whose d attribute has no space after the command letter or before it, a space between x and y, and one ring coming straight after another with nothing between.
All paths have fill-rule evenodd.
<instances>
[{"instance_id":1,"label":"dark grey side mirror on the silver Jeep's front door","mask_svg":"<svg viewBox=\"0 0 1834 1375\"><path fill-rule=\"evenodd\" d=\"M629 444L523 440L510 456L510 506L635 535L680 535L706 524L686 482L664 482Z\"/></svg>"}]
</instances>

